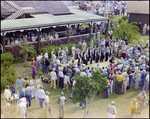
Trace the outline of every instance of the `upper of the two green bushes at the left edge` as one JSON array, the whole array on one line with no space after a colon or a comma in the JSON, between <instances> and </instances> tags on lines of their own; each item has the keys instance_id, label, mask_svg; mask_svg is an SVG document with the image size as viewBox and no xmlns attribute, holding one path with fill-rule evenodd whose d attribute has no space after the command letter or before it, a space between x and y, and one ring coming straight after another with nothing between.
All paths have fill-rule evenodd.
<instances>
[{"instance_id":1,"label":"upper of the two green bushes at the left edge","mask_svg":"<svg viewBox=\"0 0 150 119\"><path fill-rule=\"evenodd\" d=\"M12 64L13 60L14 60L14 56L10 52L1 54L1 64L6 62L6 61L8 61Z\"/></svg>"}]
</instances>

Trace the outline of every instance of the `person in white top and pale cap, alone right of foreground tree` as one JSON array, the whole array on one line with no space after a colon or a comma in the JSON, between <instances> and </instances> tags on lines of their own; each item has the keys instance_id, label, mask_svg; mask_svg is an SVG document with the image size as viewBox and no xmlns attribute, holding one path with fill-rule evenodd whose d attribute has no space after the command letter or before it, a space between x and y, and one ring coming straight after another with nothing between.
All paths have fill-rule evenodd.
<instances>
[{"instance_id":1,"label":"person in white top and pale cap, alone right of foreground tree","mask_svg":"<svg viewBox=\"0 0 150 119\"><path fill-rule=\"evenodd\" d=\"M106 108L106 111L108 112L108 118L115 118L115 115L117 114L117 111L114 105L115 105L115 102L112 101L111 105L108 105Z\"/></svg>"}]
</instances>

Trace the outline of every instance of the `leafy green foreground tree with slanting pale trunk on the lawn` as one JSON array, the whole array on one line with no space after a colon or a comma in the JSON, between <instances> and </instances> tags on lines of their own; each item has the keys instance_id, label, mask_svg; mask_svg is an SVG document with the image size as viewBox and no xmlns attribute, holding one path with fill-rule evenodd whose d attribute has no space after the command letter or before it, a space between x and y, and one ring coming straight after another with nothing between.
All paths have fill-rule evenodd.
<instances>
[{"instance_id":1,"label":"leafy green foreground tree with slanting pale trunk on the lawn","mask_svg":"<svg viewBox=\"0 0 150 119\"><path fill-rule=\"evenodd\" d=\"M101 91L107 85L107 80L104 78L100 71L93 71L92 77L94 81L87 76L75 76L75 86L73 91L73 103L83 103L86 100L86 106L84 107L84 118L88 117L89 110L93 99L97 91ZM87 102L90 101L89 107L87 108Z\"/></svg>"}]
</instances>

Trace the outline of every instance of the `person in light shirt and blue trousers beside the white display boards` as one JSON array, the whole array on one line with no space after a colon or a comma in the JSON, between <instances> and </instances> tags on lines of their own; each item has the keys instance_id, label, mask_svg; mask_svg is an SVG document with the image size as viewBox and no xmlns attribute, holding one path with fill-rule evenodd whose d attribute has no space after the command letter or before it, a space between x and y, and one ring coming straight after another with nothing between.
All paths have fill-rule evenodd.
<instances>
[{"instance_id":1,"label":"person in light shirt and blue trousers beside the white display boards","mask_svg":"<svg viewBox=\"0 0 150 119\"><path fill-rule=\"evenodd\" d=\"M32 88L29 86L29 84L26 85L27 87L25 88L25 95L26 95L26 100L27 100L27 107L28 107L28 102L29 106L31 106L31 99L32 99Z\"/></svg>"}]
</instances>

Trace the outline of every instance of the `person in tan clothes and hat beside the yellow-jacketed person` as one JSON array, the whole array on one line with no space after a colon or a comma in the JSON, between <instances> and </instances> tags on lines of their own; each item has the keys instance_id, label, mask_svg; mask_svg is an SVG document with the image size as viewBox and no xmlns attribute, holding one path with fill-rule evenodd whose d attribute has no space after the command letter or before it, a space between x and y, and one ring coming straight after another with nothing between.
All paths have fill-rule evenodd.
<instances>
[{"instance_id":1,"label":"person in tan clothes and hat beside the yellow-jacketed person","mask_svg":"<svg viewBox=\"0 0 150 119\"><path fill-rule=\"evenodd\" d=\"M146 92L140 92L140 94L137 95L138 98L138 113L142 114L143 105L147 103L147 95Z\"/></svg>"}]
</instances>

